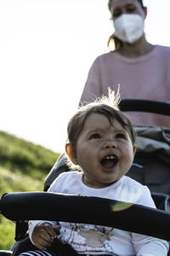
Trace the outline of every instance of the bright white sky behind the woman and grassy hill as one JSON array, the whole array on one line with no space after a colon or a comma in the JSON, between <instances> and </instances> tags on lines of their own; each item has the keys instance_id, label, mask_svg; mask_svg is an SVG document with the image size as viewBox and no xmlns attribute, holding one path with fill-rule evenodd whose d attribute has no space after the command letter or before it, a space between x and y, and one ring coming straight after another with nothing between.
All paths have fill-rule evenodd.
<instances>
[{"instance_id":1,"label":"bright white sky behind the woman and grassy hill","mask_svg":"<svg viewBox=\"0 0 170 256\"><path fill-rule=\"evenodd\" d=\"M145 0L145 32L170 46L169 0ZM108 51L107 0L0 1L0 130L56 152L88 70Z\"/></svg>"}]
</instances>

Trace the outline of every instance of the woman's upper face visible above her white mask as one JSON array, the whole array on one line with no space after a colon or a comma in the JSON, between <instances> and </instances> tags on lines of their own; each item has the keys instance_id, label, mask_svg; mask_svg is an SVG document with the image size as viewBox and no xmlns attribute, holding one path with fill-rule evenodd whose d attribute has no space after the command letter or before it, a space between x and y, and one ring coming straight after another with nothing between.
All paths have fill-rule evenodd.
<instances>
[{"instance_id":1,"label":"woman's upper face visible above her white mask","mask_svg":"<svg viewBox=\"0 0 170 256\"><path fill-rule=\"evenodd\" d=\"M138 14L145 18L145 12L137 0L112 0L111 17L113 20L122 14Z\"/></svg>"}]
</instances>

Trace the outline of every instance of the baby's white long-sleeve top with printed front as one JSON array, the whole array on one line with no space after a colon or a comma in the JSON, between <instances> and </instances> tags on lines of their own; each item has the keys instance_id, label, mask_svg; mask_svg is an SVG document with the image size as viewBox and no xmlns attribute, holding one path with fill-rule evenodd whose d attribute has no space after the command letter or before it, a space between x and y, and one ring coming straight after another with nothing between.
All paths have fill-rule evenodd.
<instances>
[{"instance_id":1,"label":"baby's white long-sleeve top with printed front","mask_svg":"<svg viewBox=\"0 0 170 256\"><path fill-rule=\"evenodd\" d=\"M82 182L82 172L64 172L54 180L48 191L72 195L97 196L156 208L151 198L150 190L126 176L108 187L94 189ZM35 226L41 222L43 221L31 222L29 226L30 237ZM49 223L57 224L57 222ZM64 222L59 222L59 224L61 225L58 236L59 240L70 244L80 254L102 255L102 253L115 253L119 256L167 255L168 243L161 239L106 226Z\"/></svg>"}]
</instances>

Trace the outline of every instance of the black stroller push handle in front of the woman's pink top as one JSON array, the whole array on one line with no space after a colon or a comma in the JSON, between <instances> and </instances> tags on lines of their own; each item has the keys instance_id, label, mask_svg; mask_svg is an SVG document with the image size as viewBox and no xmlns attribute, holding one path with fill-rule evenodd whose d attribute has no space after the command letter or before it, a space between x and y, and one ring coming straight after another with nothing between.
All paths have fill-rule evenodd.
<instances>
[{"instance_id":1,"label":"black stroller push handle in front of the woman's pink top","mask_svg":"<svg viewBox=\"0 0 170 256\"><path fill-rule=\"evenodd\" d=\"M143 99L122 99L119 104L119 108L122 111L170 115L170 102L158 102Z\"/></svg>"}]
</instances>

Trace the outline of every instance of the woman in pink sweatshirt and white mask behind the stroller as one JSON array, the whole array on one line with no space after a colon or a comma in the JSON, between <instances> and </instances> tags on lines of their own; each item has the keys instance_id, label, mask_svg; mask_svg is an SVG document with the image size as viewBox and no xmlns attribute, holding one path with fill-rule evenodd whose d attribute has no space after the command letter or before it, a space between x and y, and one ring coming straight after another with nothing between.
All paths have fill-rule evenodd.
<instances>
[{"instance_id":1,"label":"woman in pink sweatshirt and white mask behind the stroller","mask_svg":"<svg viewBox=\"0 0 170 256\"><path fill-rule=\"evenodd\" d=\"M170 48L150 44L144 35L147 9L142 0L110 0L115 50L100 55L88 73L80 104L106 95L108 87L122 98L167 102L170 99ZM135 124L170 127L170 119L156 113L129 113Z\"/></svg>"}]
</instances>

